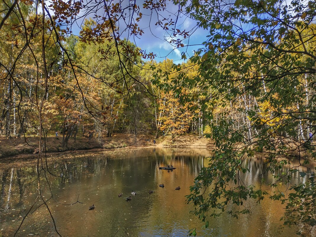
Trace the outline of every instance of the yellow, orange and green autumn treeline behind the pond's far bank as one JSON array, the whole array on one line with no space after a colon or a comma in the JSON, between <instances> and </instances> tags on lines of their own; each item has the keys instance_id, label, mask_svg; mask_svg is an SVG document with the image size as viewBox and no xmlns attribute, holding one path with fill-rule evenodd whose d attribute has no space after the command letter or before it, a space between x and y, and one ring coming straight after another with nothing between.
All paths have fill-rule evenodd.
<instances>
[{"instance_id":1,"label":"yellow, orange and green autumn treeline behind the pond's far bank","mask_svg":"<svg viewBox=\"0 0 316 237\"><path fill-rule=\"evenodd\" d=\"M82 136L102 137L111 136L113 132L150 133L156 136L160 132L160 134L169 133L175 139L177 135L188 132L197 133L201 137L206 129L206 135L210 136L209 124L213 121L215 125L222 123L222 118L226 117L223 111L229 111L233 129L242 131L243 139L240 142L252 143L254 137L262 134L254 126L254 120L256 125L264 124L264 129L268 129L268 133L275 134L276 131L272 127L281 125L284 119L288 119L286 114L282 117L275 116L275 111L280 106L278 100L283 100L284 97L280 98L279 95L274 94L269 100L265 98L270 93L271 83L261 76L263 73L258 69L230 71L219 67L216 73L226 77L228 73L233 72L230 78L234 79L230 79L231 85L228 82L228 87L246 91L248 87L255 86L256 94L244 93L231 100L227 93L210 103L212 96L215 98L217 94L222 94L220 87L211 91L209 85L204 85L202 88L186 90L185 93L177 88L181 83L186 87L185 83L193 86L199 80L203 81L202 75L197 74L201 62L197 63L192 59L187 63L174 65L169 59L161 63L152 60L143 61L139 49L130 41L123 40L123 44L134 52L130 57L122 56L128 71L123 77L113 40L91 43L84 39L86 32L91 32L96 25L93 20L85 21L85 27L79 37L73 35L64 37L65 49L69 51L70 59L65 58L63 50L56 46L54 36L47 32L45 48L48 88L45 91L43 65L39 60L40 38L36 37L41 32L40 16L35 19L34 9L30 6L24 8L27 14L25 21L29 21L29 24L38 21L37 28L29 29L32 33L31 46L23 48L23 41L19 39L24 34L23 26L14 23L17 19L12 17L11 22L3 26L6 35L2 35L1 42L3 55L0 81L1 135L6 137L22 134L39 135L36 100L40 96L46 98L43 104L45 132L52 135L58 131L64 136L65 143L70 136L76 138L78 133ZM50 27L49 23L46 27ZM106 28L104 31L109 32L110 29ZM306 32L306 34L304 37L309 37L310 33ZM307 45L313 49L313 42ZM247 58L246 56L243 55L244 58ZM76 76L68 60L75 65ZM202 61L208 60L207 54L204 54ZM245 62L246 65L251 63L250 59ZM234 81L245 77L245 73L252 77L258 76L256 84L244 81L235 83L235 86ZM185 77L187 81L168 82L167 87L166 85L163 87L161 83L167 75L177 80ZM289 109L298 112L303 107L312 106L314 98L314 89L311 86L312 75L306 72L298 78L295 85L284 84L290 86L283 88L286 93L284 96L296 97L298 100L285 107L283 113ZM180 104L179 95L188 98L185 104ZM220 102L217 103L217 100ZM210 112L211 117L208 116ZM285 131L282 131L281 135L286 136L291 133L296 134L295 141L306 140L309 138L309 133L313 133L313 127L312 120L299 119L295 122L295 126L291 124L290 127L284 128Z\"/></svg>"}]
</instances>

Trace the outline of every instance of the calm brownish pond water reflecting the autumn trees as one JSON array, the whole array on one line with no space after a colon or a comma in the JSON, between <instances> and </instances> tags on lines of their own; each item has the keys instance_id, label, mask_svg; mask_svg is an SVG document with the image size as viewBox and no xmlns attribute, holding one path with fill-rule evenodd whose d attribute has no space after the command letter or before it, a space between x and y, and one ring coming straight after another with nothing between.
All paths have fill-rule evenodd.
<instances>
[{"instance_id":1,"label":"calm brownish pond water reflecting the autumn trees","mask_svg":"<svg viewBox=\"0 0 316 237\"><path fill-rule=\"evenodd\" d=\"M56 200L47 204L62 236L187 236L195 227L197 236L296 236L295 228L280 228L284 206L268 198L261 204L248 201L249 215L234 219L223 213L209 219L210 228L201 229L203 224L189 214L193 206L185 204L185 195L200 169L207 166L209 155L206 149L146 148L50 156L51 172L63 173L65 178L48 175ZM0 236L13 236L37 196L36 161L1 162ZM168 164L177 169L159 170ZM242 177L245 184L259 185L263 160L247 159L245 165L251 171ZM270 175L265 179L272 181ZM47 200L44 176L41 181ZM158 186L162 183L164 188ZM127 202L131 191L137 195ZM121 192L123 196L118 197ZM75 203L78 195L82 204L64 205ZM17 236L58 236L42 203L36 202ZM89 211L92 204L95 209Z\"/></svg>"}]
</instances>

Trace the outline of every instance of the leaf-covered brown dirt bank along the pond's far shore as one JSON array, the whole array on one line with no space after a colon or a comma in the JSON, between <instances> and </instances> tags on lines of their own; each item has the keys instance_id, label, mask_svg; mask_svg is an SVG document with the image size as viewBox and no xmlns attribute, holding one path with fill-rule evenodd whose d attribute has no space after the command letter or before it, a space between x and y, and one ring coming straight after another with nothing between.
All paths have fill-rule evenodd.
<instances>
[{"instance_id":1,"label":"leaf-covered brown dirt bank along the pond's far shore","mask_svg":"<svg viewBox=\"0 0 316 237\"><path fill-rule=\"evenodd\" d=\"M69 139L67 146L62 147L62 137L47 137L47 153L90 150L90 149L115 149L123 147L149 147L153 146L154 136L134 134L114 134L112 137L101 139L93 138L88 143L88 138L77 137L76 143L73 138ZM5 139L0 137L0 158L7 158L15 155L32 155L38 147L38 137L24 138L11 137ZM194 135L184 135L172 143L171 136L159 137L156 139L155 146L158 147L188 147L188 148L211 148L210 139L198 138Z\"/></svg>"}]
</instances>

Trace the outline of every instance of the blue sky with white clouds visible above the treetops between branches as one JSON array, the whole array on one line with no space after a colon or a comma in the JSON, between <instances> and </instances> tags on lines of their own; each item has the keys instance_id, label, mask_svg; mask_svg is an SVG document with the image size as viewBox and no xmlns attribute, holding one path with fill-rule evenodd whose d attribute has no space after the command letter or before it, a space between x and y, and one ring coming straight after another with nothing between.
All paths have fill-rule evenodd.
<instances>
[{"instance_id":1,"label":"blue sky with white clouds visible above the treetops between branches","mask_svg":"<svg viewBox=\"0 0 316 237\"><path fill-rule=\"evenodd\" d=\"M48 0L50 2L51 0ZM88 0L85 0L88 1ZM106 1L110 2L110 1ZM115 1L113 1L115 3ZM146 50L146 52L154 52L157 54L157 57L155 58L156 61L162 61L166 57L173 59L174 63L181 63L183 60L181 60L181 52L186 52L187 58L193 55L193 50L196 50L200 47L202 47L200 44L204 42L207 38L206 35L209 33L206 30L203 30L201 28L197 29L197 22L190 19L189 17L180 14L178 15L178 21L176 28L180 30L191 30L195 29L194 33L187 39L185 39L182 43L184 43L185 47L182 48L175 48L174 45L170 44L168 41L170 41L170 35L167 31L162 29L160 26L156 26L155 23L157 22L157 12L151 12L150 9L143 9L142 4L143 0L137 0L136 3L140 6L140 11L143 13L142 19L137 22L140 28L143 29L144 34L140 36L140 38L136 38L133 36L129 36L128 32L122 32L126 27L126 22L130 22L130 19L126 19L126 22L123 20L119 21L119 27L120 31L122 32L122 35L120 38L129 38L130 41L134 42L138 47L142 48L142 50ZM90 2L91 3L91 2ZM123 4L129 4L129 0L123 0ZM105 11L103 8L104 3L102 1L96 1L92 8L90 9L97 9L97 14L100 16L105 16ZM163 17L170 17L173 20L176 18L176 15L178 13L179 7L174 6L172 3L167 4L167 8L164 11L158 12L160 14L159 18ZM184 10L184 9L183 9ZM52 15L54 15L53 10L50 11ZM78 20L72 24L71 30L73 34L78 35L80 31L80 27L82 23L84 22L84 18L80 18L80 16L86 15L87 11L82 10L78 17ZM129 15L129 12L127 12L127 15ZM94 17L94 14L87 14L86 18ZM137 16L136 14L133 15L133 18L135 19ZM66 27L66 26L64 26ZM133 37L133 38L131 38Z\"/></svg>"}]
</instances>

